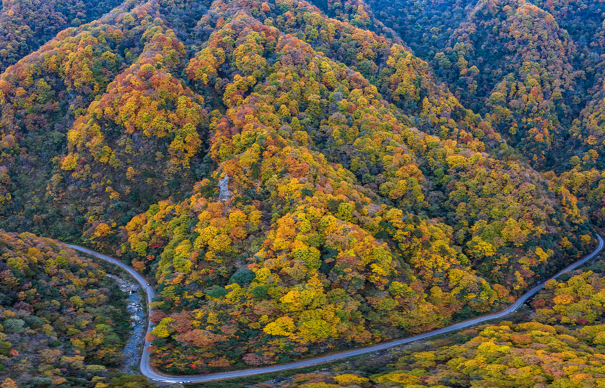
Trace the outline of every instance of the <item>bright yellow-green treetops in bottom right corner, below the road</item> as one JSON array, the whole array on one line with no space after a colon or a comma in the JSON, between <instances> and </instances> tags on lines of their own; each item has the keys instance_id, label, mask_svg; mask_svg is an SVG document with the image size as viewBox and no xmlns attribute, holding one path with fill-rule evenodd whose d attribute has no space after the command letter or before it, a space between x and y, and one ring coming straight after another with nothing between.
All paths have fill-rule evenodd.
<instances>
[{"instance_id":1,"label":"bright yellow-green treetops in bottom right corner, below the road","mask_svg":"<svg viewBox=\"0 0 605 388\"><path fill-rule=\"evenodd\" d=\"M598 387L603 326L571 330L538 322L503 321L458 333L461 343L434 341L373 375L355 370L295 375L286 387ZM259 385L260 386L260 385ZM255 386L255 387L259 387Z\"/></svg>"}]
</instances>

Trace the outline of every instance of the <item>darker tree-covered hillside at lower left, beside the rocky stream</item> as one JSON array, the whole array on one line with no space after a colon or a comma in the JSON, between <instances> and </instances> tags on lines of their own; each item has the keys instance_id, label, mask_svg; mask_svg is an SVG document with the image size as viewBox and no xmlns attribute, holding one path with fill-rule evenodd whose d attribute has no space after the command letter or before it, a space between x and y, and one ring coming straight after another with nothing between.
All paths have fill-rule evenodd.
<instances>
[{"instance_id":1,"label":"darker tree-covered hillside at lower left, beside the rocky stream","mask_svg":"<svg viewBox=\"0 0 605 388\"><path fill-rule=\"evenodd\" d=\"M57 240L0 230L0 251L2 384L103 383L123 359L125 294Z\"/></svg>"}]
</instances>

